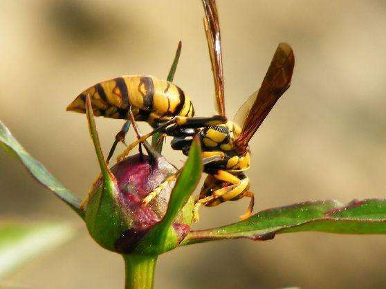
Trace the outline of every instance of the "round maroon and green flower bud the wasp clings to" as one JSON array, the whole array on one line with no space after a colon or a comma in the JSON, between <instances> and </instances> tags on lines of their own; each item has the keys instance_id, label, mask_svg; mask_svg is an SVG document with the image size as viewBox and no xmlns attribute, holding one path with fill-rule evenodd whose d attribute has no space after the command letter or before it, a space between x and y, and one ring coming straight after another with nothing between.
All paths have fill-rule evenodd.
<instances>
[{"instance_id":1,"label":"round maroon and green flower bud the wasp clings to","mask_svg":"<svg viewBox=\"0 0 386 289\"><path fill-rule=\"evenodd\" d=\"M86 225L93 239L113 252L129 254L165 215L176 168L163 157L154 162L144 155L130 156L111 167L112 183L98 178L84 201ZM154 198L147 198L156 191ZM176 218L171 241L178 245L190 231L193 201Z\"/></svg>"}]
</instances>

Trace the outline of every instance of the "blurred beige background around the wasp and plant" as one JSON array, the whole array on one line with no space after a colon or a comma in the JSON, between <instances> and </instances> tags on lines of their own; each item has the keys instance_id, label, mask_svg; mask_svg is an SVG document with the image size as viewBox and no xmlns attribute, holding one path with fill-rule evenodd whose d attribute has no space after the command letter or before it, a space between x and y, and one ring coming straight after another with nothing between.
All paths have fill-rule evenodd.
<instances>
[{"instance_id":1,"label":"blurred beige background around the wasp and plant","mask_svg":"<svg viewBox=\"0 0 386 289\"><path fill-rule=\"evenodd\" d=\"M295 51L292 86L250 144L255 210L383 197L386 2L218 0L218 6L228 115L259 87L279 41ZM0 119L82 198L98 165L84 115L65 107L84 88L127 74L165 78L181 39L175 82L192 96L197 115L214 114L201 1L3 0L0 7ZM97 125L107 151L122 121ZM184 160L165 153L177 165ZM1 152L0 164L1 216L81 225L10 156ZM247 204L203 208L195 227L237 221ZM385 236L299 233L204 243L160 257L156 288L386 288L385 258ZM7 282L123 288L122 269L120 256L100 249L84 230Z\"/></svg>"}]
</instances>

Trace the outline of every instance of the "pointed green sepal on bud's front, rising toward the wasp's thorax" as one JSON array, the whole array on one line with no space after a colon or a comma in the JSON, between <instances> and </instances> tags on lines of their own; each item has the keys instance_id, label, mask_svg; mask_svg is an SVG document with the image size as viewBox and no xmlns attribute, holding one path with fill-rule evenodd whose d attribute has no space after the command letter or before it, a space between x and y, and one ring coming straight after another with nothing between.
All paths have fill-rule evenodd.
<instances>
[{"instance_id":1,"label":"pointed green sepal on bud's front, rising toward the wasp's thorax","mask_svg":"<svg viewBox=\"0 0 386 289\"><path fill-rule=\"evenodd\" d=\"M172 222L196 189L202 171L200 141L195 137L187 161L170 195L165 216L145 235L136 252L144 253L151 250L151 254L160 254L176 247L178 241L175 239Z\"/></svg>"}]
</instances>

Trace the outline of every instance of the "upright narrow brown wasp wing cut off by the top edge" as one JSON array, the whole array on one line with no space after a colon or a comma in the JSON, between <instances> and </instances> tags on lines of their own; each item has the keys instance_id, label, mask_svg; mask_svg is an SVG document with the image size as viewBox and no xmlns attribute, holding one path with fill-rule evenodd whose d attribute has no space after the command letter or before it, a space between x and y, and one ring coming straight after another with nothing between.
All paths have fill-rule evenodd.
<instances>
[{"instance_id":1,"label":"upright narrow brown wasp wing cut off by the top edge","mask_svg":"<svg viewBox=\"0 0 386 289\"><path fill-rule=\"evenodd\" d=\"M223 62L221 57L221 37L219 16L215 0L202 0L205 10L204 28L212 62L214 89L216 92L217 111L220 115L225 113L224 84L223 84Z\"/></svg>"}]
</instances>

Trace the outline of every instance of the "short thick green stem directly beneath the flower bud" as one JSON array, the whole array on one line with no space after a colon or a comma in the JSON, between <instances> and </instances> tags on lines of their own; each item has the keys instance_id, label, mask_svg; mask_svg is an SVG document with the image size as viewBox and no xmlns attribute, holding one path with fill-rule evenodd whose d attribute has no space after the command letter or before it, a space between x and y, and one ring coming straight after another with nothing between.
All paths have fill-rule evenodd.
<instances>
[{"instance_id":1,"label":"short thick green stem directly beneath the flower bud","mask_svg":"<svg viewBox=\"0 0 386 289\"><path fill-rule=\"evenodd\" d=\"M122 256L125 260L125 289L152 289L158 256Z\"/></svg>"}]
</instances>

